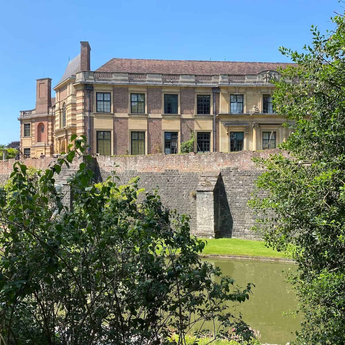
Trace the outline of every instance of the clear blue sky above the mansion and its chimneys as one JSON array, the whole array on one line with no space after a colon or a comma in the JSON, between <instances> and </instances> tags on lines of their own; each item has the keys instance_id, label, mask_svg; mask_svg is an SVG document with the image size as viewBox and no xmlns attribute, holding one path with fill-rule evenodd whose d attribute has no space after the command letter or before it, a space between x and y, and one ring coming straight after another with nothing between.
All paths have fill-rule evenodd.
<instances>
[{"instance_id":1,"label":"clear blue sky above the mansion and its chimneys","mask_svg":"<svg viewBox=\"0 0 345 345\"><path fill-rule=\"evenodd\" d=\"M114 57L287 61L309 28L333 28L337 0L4 1L0 21L0 144L18 140L20 110L35 106L36 79L61 78L79 41L91 69ZM52 97L55 92L52 92Z\"/></svg>"}]
</instances>

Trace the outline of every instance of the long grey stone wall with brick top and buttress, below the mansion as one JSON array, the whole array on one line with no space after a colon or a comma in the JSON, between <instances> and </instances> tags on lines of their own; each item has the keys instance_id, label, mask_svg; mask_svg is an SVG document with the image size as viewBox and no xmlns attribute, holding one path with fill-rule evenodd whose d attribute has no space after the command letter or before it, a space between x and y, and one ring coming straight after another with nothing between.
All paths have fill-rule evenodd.
<instances>
[{"instance_id":1,"label":"long grey stone wall with brick top and buttress, below the mansion","mask_svg":"<svg viewBox=\"0 0 345 345\"><path fill-rule=\"evenodd\" d=\"M247 207L254 180L262 172L252 158L267 157L278 151L98 156L92 166L98 180L105 180L116 170L124 182L140 176L139 187L146 190L158 187L163 205L190 215L191 231L195 235L259 239L258 234L250 231L255 216ZM24 162L27 166L46 169L51 161L52 158L46 157ZM0 184L8 179L13 162L0 161ZM64 176L75 169L73 164Z\"/></svg>"}]
</instances>

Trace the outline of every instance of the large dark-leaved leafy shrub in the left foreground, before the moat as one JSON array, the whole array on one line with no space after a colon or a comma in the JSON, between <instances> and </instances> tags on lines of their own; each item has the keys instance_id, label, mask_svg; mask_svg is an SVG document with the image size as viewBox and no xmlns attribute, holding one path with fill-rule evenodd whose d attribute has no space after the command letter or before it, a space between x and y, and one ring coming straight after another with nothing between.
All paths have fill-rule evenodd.
<instances>
[{"instance_id":1,"label":"large dark-leaved leafy shrub in the left foreground, before the moat","mask_svg":"<svg viewBox=\"0 0 345 345\"><path fill-rule=\"evenodd\" d=\"M75 140L84 151L86 138ZM137 180L118 188L113 175L94 184L90 156L69 180L64 207L54 173L38 181L14 164L0 191L0 335L5 344L185 344L209 321L214 339L253 331L232 311L249 299L220 269L201 262L205 242L190 236L189 218L169 212L157 191L137 204ZM230 307L230 306L231 307ZM177 335L177 341L172 339Z\"/></svg>"}]
</instances>

